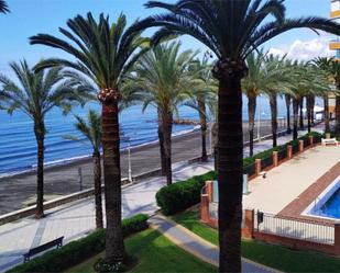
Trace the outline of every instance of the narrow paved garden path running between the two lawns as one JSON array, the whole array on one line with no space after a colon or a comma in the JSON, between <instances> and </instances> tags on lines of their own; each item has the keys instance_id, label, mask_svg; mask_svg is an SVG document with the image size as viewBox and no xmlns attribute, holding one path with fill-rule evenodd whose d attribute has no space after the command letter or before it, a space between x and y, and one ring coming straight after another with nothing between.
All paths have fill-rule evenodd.
<instances>
[{"instance_id":1,"label":"narrow paved garden path running between the two lawns","mask_svg":"<svg viewBox=\"0 0 340 273\"><path fill-rule=\"evenodd\" d=\"M162 215L155 215L149 221L152 228L158 230L179 248L207 263L218 266L219 249L217 246ZM242 258L242 272L268 273L277 271Z\"/></svg>"}]
</instances>

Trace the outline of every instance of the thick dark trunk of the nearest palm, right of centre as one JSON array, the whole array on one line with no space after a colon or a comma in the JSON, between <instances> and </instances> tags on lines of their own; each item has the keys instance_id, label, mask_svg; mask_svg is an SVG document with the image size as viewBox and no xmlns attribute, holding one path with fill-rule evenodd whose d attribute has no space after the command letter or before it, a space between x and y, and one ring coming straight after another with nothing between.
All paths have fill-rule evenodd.
<instances>
[{"instance_id":1,"label":"thick dark trunk of the nearest palm, right of centre","mask_svg":"<svg viewBox=\"0 0 340 273\"><path fill-rule=\"evenodd\" d=\"M241 77L220 78L218 102L219 271L241 272L243 183Z\"/></svg>"}]
</instances>

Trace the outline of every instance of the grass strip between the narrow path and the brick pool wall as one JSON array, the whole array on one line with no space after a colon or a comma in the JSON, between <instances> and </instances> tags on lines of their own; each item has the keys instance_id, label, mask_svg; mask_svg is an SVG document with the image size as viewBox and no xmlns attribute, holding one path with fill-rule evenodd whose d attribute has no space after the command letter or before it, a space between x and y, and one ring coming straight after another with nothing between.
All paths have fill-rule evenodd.
<instances>
[{"instance_id":1,"label":"grass strip between the narrow path and the brick pool wall","mask_svg":"<svg viewBox=\"0 0 340 273\"><path fill-rule=\"evenodd\" d=\"M173 216L173 219L201 238L218 244L217 230L199 221L197 207ZM339 272L340 259L311 252L297 251L254 240L242 241L242 257L285 272Z\"/></svg>"}]
</instances>

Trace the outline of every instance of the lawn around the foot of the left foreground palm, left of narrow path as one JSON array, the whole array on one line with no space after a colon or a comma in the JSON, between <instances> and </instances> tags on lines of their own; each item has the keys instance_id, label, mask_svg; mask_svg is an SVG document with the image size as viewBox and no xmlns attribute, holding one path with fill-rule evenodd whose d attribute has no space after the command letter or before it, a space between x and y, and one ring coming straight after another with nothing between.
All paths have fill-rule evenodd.
<instances>
[{"instance_id":1,"label":"lawn around the foot of the left foreground palm, left of narrow path","mask_svg":"<svg viewBox=\"0 0 340 273\"><path fill-rule=\"evenodd\" d=\"M125 239L129 254L138 259L138 264L128 272L201 272L212 273L217 269L176 247L155 230L147 229ZM68 273L94 272L94 263L103 252L68 270Z\"/></svg>"}]
</instances>

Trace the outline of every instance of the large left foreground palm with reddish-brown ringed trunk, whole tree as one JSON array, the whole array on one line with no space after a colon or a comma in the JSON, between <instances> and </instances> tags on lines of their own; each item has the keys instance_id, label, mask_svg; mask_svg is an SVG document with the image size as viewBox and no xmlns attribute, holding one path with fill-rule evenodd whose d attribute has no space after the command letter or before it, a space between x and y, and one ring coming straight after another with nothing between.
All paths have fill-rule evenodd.
<instances>
[{"instance_id":1,"label":"large left foreground palm with reddish-brown ringed trunk, whole tree","mask_svg":"<svg viewBox=\"0 0 340 273\"><path fill-rule=\"evenodd\" d=\"M138 22L135 22L138 23ZM36 69L64 66L74 70L73 78L84 77L96 84L98 101L102 105L102 149L106 197L106 257L105 262L117 264L125 257L121 225L121 171L119 150L119 100L124 75L147 47L141 32L127 29L123 14L117 23L100 14L97 22L91 13L77 15L67 21L69 31L59 29L65 39L48 34L31 37L31 44L41 44L62 49L76 60L61 58L45 60ZM77 76L78 75L78 76ZM79 82L84 82L80 79ZM81 83L83 84L83 83ZM89 84L91 86L91 84Z\"/></svg>"}]
</instances>

